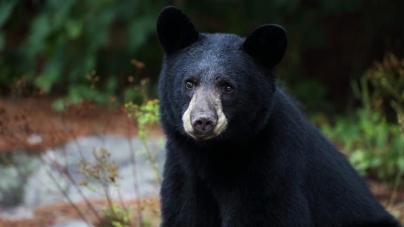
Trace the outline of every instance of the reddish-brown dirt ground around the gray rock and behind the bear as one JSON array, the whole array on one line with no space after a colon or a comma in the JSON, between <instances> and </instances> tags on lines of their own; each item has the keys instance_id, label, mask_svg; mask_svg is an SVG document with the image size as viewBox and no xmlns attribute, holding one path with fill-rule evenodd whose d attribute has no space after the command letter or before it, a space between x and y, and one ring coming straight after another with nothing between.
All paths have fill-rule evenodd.
<instances>
[{"instance_id":1,"label":"reddish-brown dirt ground around the gray rock and behind the bear","mask_svg":"<svg viewBox=\"0 0 404 227\"><path fill-rule=\"evenodd\" d=\"M123 108L109 109L83 103L58 113L52 109L52 102L51 98L0 99L0 153L20 149L40 152L90 134L136 135L136 125L128 119ZM151 136L163 135L159 126L152 126L148 131ZM394 192L388 185L374 181L369 181L369 185L379 201L404 222L404 190ZM392 197L395 198L392 200ZM158 209L158 205L153 207ZM57 204L38 208L33 219L10 221L0 218L0 226L49 226L61 221L61 217L78 218L69 204Z\"/></svg>"}]
</instances>

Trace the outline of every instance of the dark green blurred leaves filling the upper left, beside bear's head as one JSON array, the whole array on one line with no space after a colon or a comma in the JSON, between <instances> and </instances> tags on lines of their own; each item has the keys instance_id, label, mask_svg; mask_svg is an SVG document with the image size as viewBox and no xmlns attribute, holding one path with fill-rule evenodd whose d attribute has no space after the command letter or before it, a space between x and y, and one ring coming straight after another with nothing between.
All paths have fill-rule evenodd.
<instances>
[{"instance_id":1,"label":"dark green blurred leaves filling the upper left, beside bear's head","mask_svg":"<svg viewBox=\"0 0 404 227\"><path fill-rule=\"evenodd\" d=\"M0 28L6 24L8 33L0 32L0 50L6 35L14 34L10 28L27 27L28 33L17 33L21 41L0 59L0 87L25 76L30 88L45 94L106 104L118 84L128 84L126 78L133 73L129 60L150 40L157 46L155 18L162 7L159 1L3 1ZM86 75L95 71L99 82L88 89Z\"/></svg>"}]
</instances>

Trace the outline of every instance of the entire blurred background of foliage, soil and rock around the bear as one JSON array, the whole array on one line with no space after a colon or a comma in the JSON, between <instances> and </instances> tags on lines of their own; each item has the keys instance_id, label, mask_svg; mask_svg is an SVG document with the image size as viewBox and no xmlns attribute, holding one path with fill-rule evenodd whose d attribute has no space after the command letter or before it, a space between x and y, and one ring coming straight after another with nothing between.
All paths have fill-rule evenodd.
<instances>
[{"instance_id":1,"label":"entire blurred background of foliage, soil and rock around the bear","mask_svg":"<svg viewBox=\"0 0 404 227\"><path fill-rule=\"evenodd\" d=\"M4 0L0 226L158 226L167 5L200 32L282 25L279 86L403 220L404 1Z\"/></svg>"}]
</instances>

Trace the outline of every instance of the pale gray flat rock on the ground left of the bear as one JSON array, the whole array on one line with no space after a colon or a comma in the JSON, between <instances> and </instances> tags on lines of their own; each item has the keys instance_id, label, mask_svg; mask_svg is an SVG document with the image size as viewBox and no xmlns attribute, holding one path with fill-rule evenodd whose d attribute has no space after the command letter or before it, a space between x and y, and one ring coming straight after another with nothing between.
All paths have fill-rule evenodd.
<instances>
[{"instance_id":1,"label":"pale gray flat rock on the ground left of the bear","mask_svg":"<svg viewBox=\"0 0 404 227\"><path fill-rule=\"evenodd\" d=\"M160 175L165 157L164 141L162 143L162 139L163 138L153 138L148 141L150 149L156 152L155 159L159 165ZM36 207L66 202L66 198L60 192L57 185L66 191L73 201L82 201L82 197L74 185L64 174L58 172L57 168L51 163L57 161L66 166L72 178L76 182L79 182L83 179L83 176L76 172L77 163L80 159L93 160L92 150L98 150L100 147L106 148L111 153L111 159L115 160L118 165L118 173L121 177L118 183L124 200L158 196L160 186L156 181L153 167L148 163L145 157L146 155L144 155L144 152L140 152L144 150L141 141L138 138L132 138L130 142L133 144L133 149L137 153L137 155L135 155L137 182L134 181L132 174L129 141L123 136L104 135L102 137L81 137L76 141L68 142L64 146L56 149L46 150L40 158L21 152L16 154L16 156L13 157L13 160L16 160L14 165L3 166L3 168L0 166L0 176L3 176L0 181L0 216L8 216L9 218L13 216L16 218L29 216ZM17 173L19 172L24 173L23 176L25 177L18 178ZM135 193L134 184L139 186L140 195ZM102 195L102 187L99 184L89 182L89 186L98 190L94 192L87 188L80 187L87 199L104 198ZM21 190L18 191L16 188L20 188ZM114 199L118 199L118 193L113 185L109 186L109 191ZM15 193L16 195L14 196L20 198L21 201L16 201L13 204L5 203L5 198L10 198L10 195L7 194L10 192ZM16 209L16 207L23 212L9 212L12 209Z\"/></svg>"}]
</instances>

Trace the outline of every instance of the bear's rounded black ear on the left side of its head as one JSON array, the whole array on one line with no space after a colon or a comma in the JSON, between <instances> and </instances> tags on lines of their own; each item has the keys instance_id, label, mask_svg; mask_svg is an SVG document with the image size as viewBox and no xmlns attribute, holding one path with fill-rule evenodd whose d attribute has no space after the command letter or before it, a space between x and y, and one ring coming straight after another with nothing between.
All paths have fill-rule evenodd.
<instances>
[{"instance_id":1,"label":"bear's rounded black ear on the left side of its head","mask_svg":"<svg viewBox=\"0 0 404 227\"><path fill-rule=\"evenodd\" d=\"M157 36L166 53L182 49L198 38L191 20L178 8L164 8L157 19Z\"/></svg>"}]
</instances>

